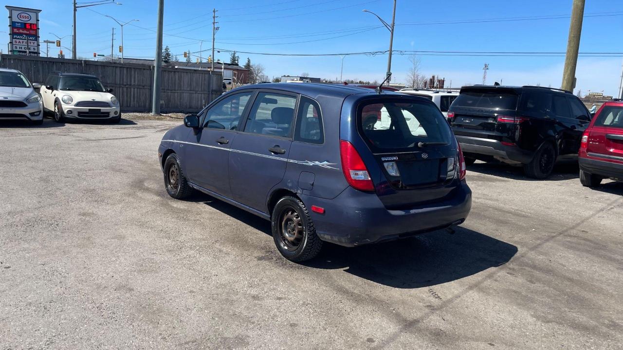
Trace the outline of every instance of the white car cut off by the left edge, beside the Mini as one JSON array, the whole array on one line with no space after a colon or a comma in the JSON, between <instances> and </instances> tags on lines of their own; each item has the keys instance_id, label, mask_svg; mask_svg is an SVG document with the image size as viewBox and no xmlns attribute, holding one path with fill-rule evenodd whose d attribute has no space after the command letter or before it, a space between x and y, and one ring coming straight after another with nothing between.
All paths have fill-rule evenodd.
<instances>
[{"instance_id":1,"label":"white car cut off by the left edge, beside the Mini","mask_svg":"<svg viewBox=\"0 0 623 350\"><path fill-rule=\"evenodd\" d=\"M14 69L0 69L0 120L29 120L34 124L43 123L43 106L35 89L39 84L31 84L28 79Z\"/></svg>"}]
</instances>

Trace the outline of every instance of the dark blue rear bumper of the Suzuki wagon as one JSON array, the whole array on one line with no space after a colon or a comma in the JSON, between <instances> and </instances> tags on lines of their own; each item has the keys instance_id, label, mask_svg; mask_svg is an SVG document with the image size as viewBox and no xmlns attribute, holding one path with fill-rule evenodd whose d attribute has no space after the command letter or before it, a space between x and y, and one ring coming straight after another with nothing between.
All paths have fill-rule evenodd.
<instances>
[{"instance_id":1,"label":"dark blue rear bumper of the Suzuki wagon","mask_svg":"<svg viewBox=\"0 0 623 350\"><path fill-rule=\"evenodd\" d=\"M325 214L310 212L320 239L346 247L394 240L465 221L472 208L472 191L465 181L445 202L409 210L388 210L376 194L348 187L334 199L299 194L305 206L325 208Z\"/></svg>"}]
</instances>

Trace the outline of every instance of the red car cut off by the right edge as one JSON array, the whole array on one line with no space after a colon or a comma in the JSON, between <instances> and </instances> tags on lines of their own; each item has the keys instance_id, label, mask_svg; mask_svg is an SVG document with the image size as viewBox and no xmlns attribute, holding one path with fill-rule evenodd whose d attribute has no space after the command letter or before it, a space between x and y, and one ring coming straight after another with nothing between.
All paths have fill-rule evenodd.
<instances>
[{"instance_id":1,"label":"red car cut off by the right edge","mask_svg":"<svg viewBox=\"0 0 623 350\"><path fill-rule=\"evenodd\" d=\"M623 182L623 102L606 102L584 131L579 151L580 182L599 186L602 179Z\"/></svg>"}]
</instances>

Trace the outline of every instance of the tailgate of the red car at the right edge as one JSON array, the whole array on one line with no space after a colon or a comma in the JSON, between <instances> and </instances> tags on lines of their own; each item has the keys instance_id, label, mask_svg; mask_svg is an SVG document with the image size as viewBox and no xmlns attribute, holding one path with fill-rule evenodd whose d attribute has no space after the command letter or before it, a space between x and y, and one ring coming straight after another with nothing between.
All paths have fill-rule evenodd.
<instances>
[{"instance_id":1,"label":"tailgate of the red car at the right edge","mask_svg":"<svg viewBox=\"0 0 623 350\"><path fill-rule=\"evenodd\" d=\"M589 131L587 154L623 164L623 104L606 105Z\"/></svg>"}]
</instances>

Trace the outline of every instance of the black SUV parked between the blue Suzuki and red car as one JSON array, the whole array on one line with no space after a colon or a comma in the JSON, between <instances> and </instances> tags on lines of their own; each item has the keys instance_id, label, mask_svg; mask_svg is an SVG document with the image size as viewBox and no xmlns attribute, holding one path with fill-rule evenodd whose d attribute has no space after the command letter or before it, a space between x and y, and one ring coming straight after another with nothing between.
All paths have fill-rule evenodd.
<instances>
[{"instance_id":1,"label":"black SUV parked between the blue Suzuki and red car","mask_svg":"<svg viewBox=\"0 0 623 350\"><path fill-rule=\"evenodd\" d=\"M578 153L590 115L566 90L476 85L461 89L447 118L467 164L497 159L545 179L558 156Z\"/></svg>"}]
</instances>

